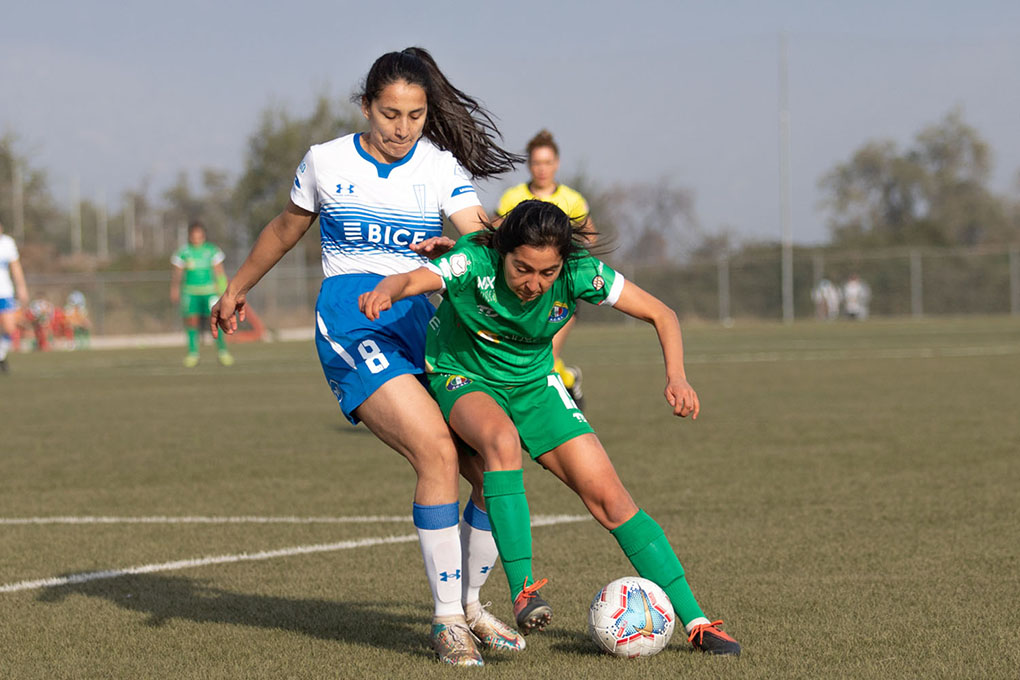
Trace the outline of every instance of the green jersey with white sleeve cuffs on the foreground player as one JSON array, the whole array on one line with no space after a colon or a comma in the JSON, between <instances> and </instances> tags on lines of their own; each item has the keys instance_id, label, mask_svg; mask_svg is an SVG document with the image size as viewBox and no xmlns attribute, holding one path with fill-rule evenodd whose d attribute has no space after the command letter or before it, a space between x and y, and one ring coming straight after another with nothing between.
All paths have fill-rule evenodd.
<instances>
[{"instance_id":1,"label":"green jersey with white sleeve cuffs on the foreground player","mask_svg":"<svg viewBox=\"0 0 1020 680\"><path fill-rule=\"evenodd\" d=\"M499 253L470 234L426 266L446 284L428 324L427 370L496 384L544 379L553 367L553 335L573 316L575 301L613 305L623 290L623 276L585 253L567 260L542 297L524 302L507 286Z\"/></svg>"}]
</instances>

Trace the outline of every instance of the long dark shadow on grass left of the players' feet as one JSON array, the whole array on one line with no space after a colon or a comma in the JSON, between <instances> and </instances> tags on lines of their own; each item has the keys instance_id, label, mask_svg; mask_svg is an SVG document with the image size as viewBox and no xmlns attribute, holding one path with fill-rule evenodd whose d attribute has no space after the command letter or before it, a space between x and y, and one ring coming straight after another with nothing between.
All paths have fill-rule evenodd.
<instances>
[{"instance_id":1,"label":"long dark shadow on grass left of the players' feet","mask_svg":"<svg viewBox=\"0 0 1020 680\"><path fill-rule=\"evenodd\" d=\"M295 599L232 592L181 576L153 574L74 583L44 590L39 601L60 603L81 594L107 599L122 609L148 615L145 625L162 626L180 619L285 630L324 640L385 647L431 658L427 624L431 610L420 616L396 613L406 603ZM371 622L366 625L366 622Z\"/></svg>"}]
</instances>

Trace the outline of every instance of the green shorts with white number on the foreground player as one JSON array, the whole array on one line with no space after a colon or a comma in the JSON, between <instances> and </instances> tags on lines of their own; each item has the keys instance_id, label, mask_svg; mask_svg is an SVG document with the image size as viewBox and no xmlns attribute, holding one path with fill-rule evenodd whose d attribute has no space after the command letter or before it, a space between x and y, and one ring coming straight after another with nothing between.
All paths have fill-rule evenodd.
<instances>
[{"instance_id":1,"label":"green shorts with white number on the foreground player","mask_svg":"<svg viewBox=\"0 0 1020 680\"><path fill-rule=\"evenodd\" d=\"M595 431L555 372L526 384L500 387L463 375L429 373L427 377L429 391L447 421L454 403L464 395L480 391L492 397L517 427L532 459Z\"/></svg>"}]
</instances>

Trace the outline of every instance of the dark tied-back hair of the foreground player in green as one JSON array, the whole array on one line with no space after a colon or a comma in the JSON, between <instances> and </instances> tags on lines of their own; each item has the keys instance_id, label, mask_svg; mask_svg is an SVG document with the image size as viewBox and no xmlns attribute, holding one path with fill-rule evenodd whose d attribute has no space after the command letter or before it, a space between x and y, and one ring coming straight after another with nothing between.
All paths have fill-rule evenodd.
<instances>
[{"instance_id":1,"label":"dark tied-back hair of the foreground player in green","mask_svg":"<svg viewBox=\"0 0 1020 680\"><path fill-rule=\"evenodd\" d=\"M531 199L518 203L499 227L484 224L471 238L504 257L518 246L552 246L566 262L589 251L589 240L594 232L586 224L586 220L570 219L553 203Z\"/></svg>"}]
</instances>

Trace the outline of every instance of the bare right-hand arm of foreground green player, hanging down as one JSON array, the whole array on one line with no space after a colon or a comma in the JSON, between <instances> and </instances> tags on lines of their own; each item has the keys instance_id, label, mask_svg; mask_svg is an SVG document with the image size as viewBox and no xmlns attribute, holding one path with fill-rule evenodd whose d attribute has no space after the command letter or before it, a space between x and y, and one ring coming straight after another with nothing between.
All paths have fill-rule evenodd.
<instances>
[{"instance_id":1,"label":"bare right-hand arm of foreground green player, hanging down","mask_svg":"<svg viewBox=\"0 0 1020 680\"><path fill-rule=\"evenodd\" d=\"M662 346L662 357L666 363L666 401L673 407L673 414L698 418L701 403L698 394L687 382L683 370L683 336L680 333L680 322L676 313L661 300L639 287L635 283L624 281L623 291L614 307L624 314L641 319L655 326Z\"/></svg>"}]
</instances>

